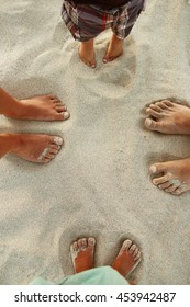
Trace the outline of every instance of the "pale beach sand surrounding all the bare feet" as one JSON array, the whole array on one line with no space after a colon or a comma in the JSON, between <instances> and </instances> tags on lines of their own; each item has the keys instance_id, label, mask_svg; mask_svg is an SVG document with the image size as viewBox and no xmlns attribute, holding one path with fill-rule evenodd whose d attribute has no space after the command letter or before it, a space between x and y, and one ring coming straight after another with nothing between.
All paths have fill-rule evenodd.
<instances>
[{"instance_id":1,"label":"pale beach sand surrounding all the bare feet","mask_svg":"<svg viewBox=\"0 0 190 307\"><path fill-rule=\"evenodd\" d=\"M54 93L71 117L62 123L1 116L0 132L48 133L65 146L47 166L8 156L0 177L0 284L56 281L72 273L69 245L98 240L109 264L125 238L143 251L139 284L190 284L190 193L155 187L150 162L189 157L189 138L145 130L154 100L190 102L190 5L147 0L124 55L102 65L110 32L97 38L98 67L86 67L60 18L62 0L0 0L0 83L19 99Z\"/></svg>"}]
</instances>

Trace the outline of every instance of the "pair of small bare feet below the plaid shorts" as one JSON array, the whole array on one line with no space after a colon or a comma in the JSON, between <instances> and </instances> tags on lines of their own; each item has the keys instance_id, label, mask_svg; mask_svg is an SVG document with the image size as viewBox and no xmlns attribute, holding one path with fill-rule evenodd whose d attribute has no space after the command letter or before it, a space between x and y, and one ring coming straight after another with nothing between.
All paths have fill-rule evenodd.
<instances>
[{"instance_id":1,"label":"pair of small bare feet below the plaid shorts","mask_svg":"<svg viewBox=\"0 0 190 307\"><path fill-rule=\"evenodd\" d=\"M79 57L89 67L96 68L96 54L94 54L94 41L81 42L79 46ZM103 57L103 62L109 62L121 56L123 53L123 39L112 35L107 53Z\"/></svg>"}]
</instances>

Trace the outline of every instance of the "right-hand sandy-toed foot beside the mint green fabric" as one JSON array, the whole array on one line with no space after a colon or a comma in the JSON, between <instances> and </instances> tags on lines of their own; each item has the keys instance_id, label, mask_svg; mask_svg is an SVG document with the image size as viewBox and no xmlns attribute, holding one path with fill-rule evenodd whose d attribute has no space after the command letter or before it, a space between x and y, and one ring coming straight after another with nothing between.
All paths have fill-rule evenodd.
<instances>
[{"instance_id":1,"label":"right-hand sandy-toed foot beside the mint green fabric","mask_svg":"<svg viewBox=\"0 0 190 307\"><path fill-rule=\"evenodd\" d=\"M125 240L111 266L125 277L136 268L139 261L141 251L137 246L131 240Z\"/></svg>"}]
</instances>

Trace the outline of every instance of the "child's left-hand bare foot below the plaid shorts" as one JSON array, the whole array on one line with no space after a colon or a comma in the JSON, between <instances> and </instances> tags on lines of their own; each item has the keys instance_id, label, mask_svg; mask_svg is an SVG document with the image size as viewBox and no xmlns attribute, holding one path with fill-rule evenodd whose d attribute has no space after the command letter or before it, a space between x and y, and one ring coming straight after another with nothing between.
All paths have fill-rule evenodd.
<instances>
[{"instance_id":1,"label":"child's left-hand bare foot below the plaid shorts","mask_svg":"<svg viewBox=\"0 0 190 307\"><path fill-rule=\"evenodd\" d=\"M96 68L97 64L93 49L93 39L81 42L79 46L79 57L86 65L91 68Z\"/></svg>"}]
</instances>

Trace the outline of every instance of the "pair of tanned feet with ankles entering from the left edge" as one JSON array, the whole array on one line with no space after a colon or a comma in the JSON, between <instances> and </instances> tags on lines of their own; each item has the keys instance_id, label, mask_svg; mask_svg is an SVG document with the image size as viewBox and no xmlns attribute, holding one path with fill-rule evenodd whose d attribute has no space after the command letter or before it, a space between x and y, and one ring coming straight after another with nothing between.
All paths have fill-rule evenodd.
<instances>
[{"instance_id":1,"label":"pair of tanned feet with ankles entering from the left edge","mask_svg":"<svg viewBox=\"0 0 190 307\"><path fill-rule=\"evenodd\" d=\"M0 88L0 114L15 120L65 121L70 114L55 95L16 100ZM46 134L0 134L0 158L13 154L27 161L48 163L60 150L63 138Z\"/></svg>"}]
</instances>

